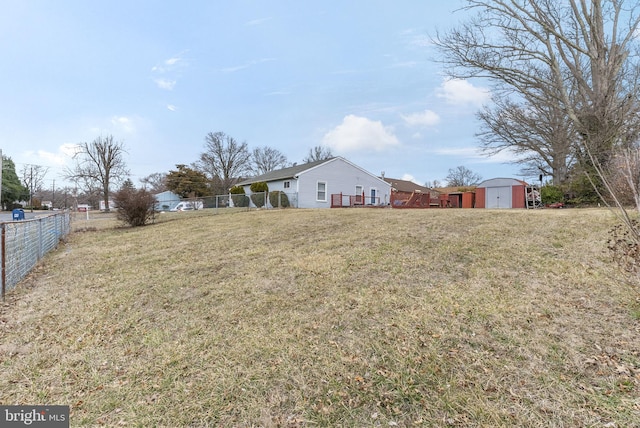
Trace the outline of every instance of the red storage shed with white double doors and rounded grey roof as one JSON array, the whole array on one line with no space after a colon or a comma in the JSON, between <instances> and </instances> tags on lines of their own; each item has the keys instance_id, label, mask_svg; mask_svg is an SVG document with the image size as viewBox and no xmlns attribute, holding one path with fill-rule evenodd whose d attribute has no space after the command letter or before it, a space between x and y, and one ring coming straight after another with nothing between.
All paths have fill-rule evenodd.
<instances>
[{"instance_id":1,"label":"red storage shed with white double doors and rounded grey roof","mask_svg":"<svg viewBox=\"0 0 640 428\"><path fill-rule=\"evenodd\" d=\"M476 208L526 208L527 186L515 178L485 180L476 188Z\"/></svg>"}]
</instances>

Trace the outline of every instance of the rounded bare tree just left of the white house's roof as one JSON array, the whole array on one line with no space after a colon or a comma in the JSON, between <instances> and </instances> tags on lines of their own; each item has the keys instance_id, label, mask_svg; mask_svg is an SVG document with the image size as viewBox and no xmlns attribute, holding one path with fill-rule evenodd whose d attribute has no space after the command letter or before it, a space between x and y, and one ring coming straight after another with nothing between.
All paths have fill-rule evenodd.
<instances>
[{"instance_id":1,"label":"rounded bare tree just left of the white house's roof","mask_svg":"<svg viewBox=\"0 0 640 428\"><path fill-rule=\"evenodd\" d=\"M210 132L205 137L205 151L194 166L202 171L216 188L226 193L251 168L247 143L239 143L224 132Z\"/></svg>"}]
</instances>

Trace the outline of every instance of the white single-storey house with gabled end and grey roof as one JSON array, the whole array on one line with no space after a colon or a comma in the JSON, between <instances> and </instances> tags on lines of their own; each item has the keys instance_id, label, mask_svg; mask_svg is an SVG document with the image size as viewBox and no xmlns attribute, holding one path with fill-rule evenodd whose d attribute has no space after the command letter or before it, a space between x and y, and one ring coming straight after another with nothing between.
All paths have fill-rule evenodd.
<instances>
[{"instance_id":1,"label":"white single-storey house with gabled end and grey roof","mask_svg":"<svg viewBox=\"0 0 640 428\"><path fill-rule=\"evenodd\" d=\"M238 186L250 195L257 182L266 182L270 192L286 193L298 208L386 206L391 194L389 183L340 156L271 171Z\"/></svg>"}]
</instances>

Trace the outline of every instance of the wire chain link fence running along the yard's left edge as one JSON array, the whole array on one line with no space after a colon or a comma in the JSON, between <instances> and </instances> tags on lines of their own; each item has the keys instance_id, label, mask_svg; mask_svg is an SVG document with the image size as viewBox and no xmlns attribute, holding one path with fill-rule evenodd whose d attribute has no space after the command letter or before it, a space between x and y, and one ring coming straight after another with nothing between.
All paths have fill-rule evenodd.
<instances>
[{"instance_id":1,"label":"wire chain link fence running along the yard's left edge","mask_svg":"<svg viewBox=\"0 0 640 428\"><path fill-rule=\"evenodd\" d=\"M0 223L2 297L15 288L46 253L56 248L70 230L69 211Z\"/></svg>"}]
</instances>

